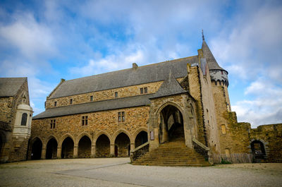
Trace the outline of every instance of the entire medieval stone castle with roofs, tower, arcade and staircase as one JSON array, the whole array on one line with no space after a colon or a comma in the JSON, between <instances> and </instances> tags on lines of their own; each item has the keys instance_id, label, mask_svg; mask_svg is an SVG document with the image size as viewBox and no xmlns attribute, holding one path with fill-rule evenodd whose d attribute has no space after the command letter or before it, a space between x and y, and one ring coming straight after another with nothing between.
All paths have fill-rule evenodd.
<instances>
[{"instance_id":1,"label":"entire medieval stone castle with roofs, tower, arcade and staircase","mask_svg":"<svg viewBox=\"0 0 282 187\"><path fill-rule=\"evenodd\" d=\"M282 124L238 123L228 84L204 37L195 56L61 79L33 117L27 78L0 78L0 161L282 162Z\"/></svg>"}]
</instances>

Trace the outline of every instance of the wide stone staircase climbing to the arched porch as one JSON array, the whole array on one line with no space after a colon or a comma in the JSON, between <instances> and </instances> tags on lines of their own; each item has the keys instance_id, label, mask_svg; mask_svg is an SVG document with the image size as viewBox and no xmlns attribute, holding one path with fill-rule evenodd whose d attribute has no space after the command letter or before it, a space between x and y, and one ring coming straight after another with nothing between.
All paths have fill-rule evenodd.
<instances>
[{"instance_id":1,"label":"wide stone staircase climbing to the arched porch","mask_svg":"<svg viewBox=\"0 0 282 187\"><path fill-rule=\"evenodd\" d=\"M159 145L157 149L147 152L136 159L134 165L172 166L172 167L208 167L209 162L194 150L185 146L183 138Z\"/></svg>"}]
</instances>

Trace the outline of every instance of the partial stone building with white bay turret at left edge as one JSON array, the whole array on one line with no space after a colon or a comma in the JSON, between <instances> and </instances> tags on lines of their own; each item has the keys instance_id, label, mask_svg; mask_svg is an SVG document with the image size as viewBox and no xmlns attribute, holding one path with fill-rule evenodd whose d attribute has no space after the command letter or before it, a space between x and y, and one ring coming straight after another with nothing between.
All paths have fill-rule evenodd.
<instances>
[{"instance_id":1,"label":"partial stone building with white bay turret at left edge","mask_svg":"<svg viewBox=\"0 0 282 187\"><path fill-rule=\"evenodd\" d=\"M27 78L0 78L0 162L27 159L32 112Z\"/></svg>"}]
</instances>

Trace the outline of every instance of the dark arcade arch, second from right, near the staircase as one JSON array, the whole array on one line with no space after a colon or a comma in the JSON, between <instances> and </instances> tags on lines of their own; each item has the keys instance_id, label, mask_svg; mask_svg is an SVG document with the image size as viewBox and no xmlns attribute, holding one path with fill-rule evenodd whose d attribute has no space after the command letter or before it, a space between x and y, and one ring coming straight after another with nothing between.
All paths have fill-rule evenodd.
<instances>
[{"instance_id":1,"label":"dark arcade arch, second from right, near the staircase","mask_svg":"<svg viewBox=\"0 0 282 187\"><path fill-rule=\"evenodd\" d=\"M117 150L115 150L116 157L129 157L130 155L130 139L128 135L125 133L120 133L116 136L115 146Z\"/></svg>"}]
</instances>

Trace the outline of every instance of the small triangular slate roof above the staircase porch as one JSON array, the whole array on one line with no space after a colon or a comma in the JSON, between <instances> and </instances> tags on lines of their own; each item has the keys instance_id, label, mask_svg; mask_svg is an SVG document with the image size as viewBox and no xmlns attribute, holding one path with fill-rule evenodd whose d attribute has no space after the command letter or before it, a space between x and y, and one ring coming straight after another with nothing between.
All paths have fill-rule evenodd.
<instances>
[{"instance_id":1,"label":"small triangular slate roof above the staircase porch","mask_svg":"<svg viewBox=\"0 0 282 187\"><path fill-rule=\"evenodd\" d=\"M164 83L161 84L159 90L151 97L150 99L157 98L157 97L164 97L168 95L177 95L181 93L186 93L176 78L174 78L171 73L168 75Z\"/></svg>"}]
</instances>

